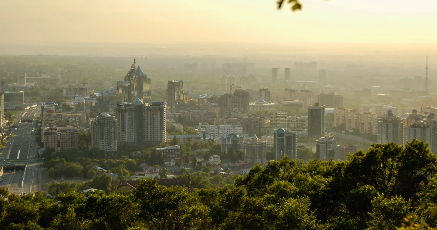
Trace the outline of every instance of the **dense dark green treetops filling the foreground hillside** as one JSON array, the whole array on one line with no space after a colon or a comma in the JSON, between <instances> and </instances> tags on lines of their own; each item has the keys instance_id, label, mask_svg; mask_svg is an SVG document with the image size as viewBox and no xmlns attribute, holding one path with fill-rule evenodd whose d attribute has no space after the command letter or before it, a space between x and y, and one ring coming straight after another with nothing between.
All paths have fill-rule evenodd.
<instances>
[{"instance_id":1,"label":"dense dark green treetops filling the foreground hillside","mask_svg":"<svg viewBox=\"0 0 437 230\"><path fill-rule=\"evenodd\" d=\"M203 188L200 172L191 176L194 193L154 179L116 192L102 177L95 186L108 186L106 193L78 193L73 184L53 198L0 190L0 228L424 230L437 224L436 173L437 157L413 140L405 148L374 144L344 162L314 159L298 167L284 158L221 188Z\"/></svg>"}]
</instances>

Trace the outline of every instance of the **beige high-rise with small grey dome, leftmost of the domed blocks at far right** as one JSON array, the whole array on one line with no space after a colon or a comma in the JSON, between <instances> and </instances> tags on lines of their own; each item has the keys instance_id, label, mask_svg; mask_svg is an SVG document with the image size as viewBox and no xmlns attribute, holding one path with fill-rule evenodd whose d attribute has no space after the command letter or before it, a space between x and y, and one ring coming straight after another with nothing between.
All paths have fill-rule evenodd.
<instances>
[{"instance_id":1,"label":"beige high-rise with small grey dome, leftmost of the domed blocks at far right","mask_svg":"<svg viewBox=\"0 0 437 230\"><path fill-rule=\"evenodd\" d=\"M395 142L403 145L402 118L395 116L392 110L388 110L384 118L378 121L378 138L377 142L385 144Z\"/></svg>"}]
</instances>

